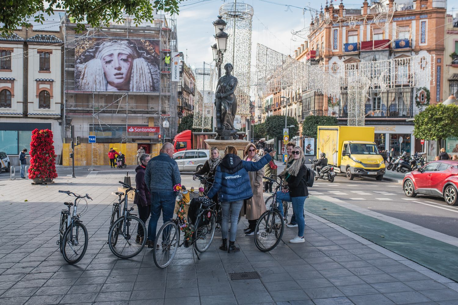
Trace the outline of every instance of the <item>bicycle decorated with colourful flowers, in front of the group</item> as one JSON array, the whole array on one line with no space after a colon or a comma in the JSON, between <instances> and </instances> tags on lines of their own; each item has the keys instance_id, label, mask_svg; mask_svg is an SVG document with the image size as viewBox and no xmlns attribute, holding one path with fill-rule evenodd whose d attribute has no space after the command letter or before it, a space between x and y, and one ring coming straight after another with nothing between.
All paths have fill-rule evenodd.
<instances>
[{"instance_id":1,"label":"bicycle decorated with colourful flowers, in front of the group","mask_svg":"<svg viewBox=\"0 0 458 305\"><path fill-rule=\"evenodd\" d=\"M202 177L202 176L201 176ZM180 193L177 197L177 200L180 201L182 194ZM203 198L203 197L200 197ZM158 268L166 268L173 261L175 254L179 247L192 247L193 253L196 253L197 259L200 260L198 252L207 251L210 247L213 237L215 236L215 223L216 223L216 213L214 207L216 203L210 200L199 200L199 209L196 214L195 224L192 224L189 216L187 225L192 226L193 235L190 241L183 240L180 244L180 232L186 223L184 219L177 217L175 219L169 220L161 226L158 233L156 234L156 239L153 246L153 259L154 263ZM161 240L161 241L159 241ZM160 244L160 245L159 245Z\"/></svg>"}]
</instances>

